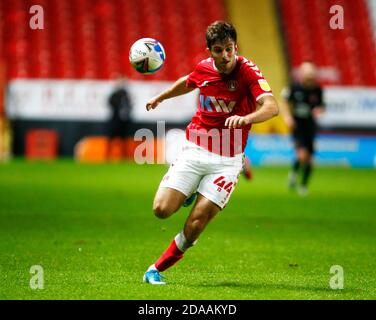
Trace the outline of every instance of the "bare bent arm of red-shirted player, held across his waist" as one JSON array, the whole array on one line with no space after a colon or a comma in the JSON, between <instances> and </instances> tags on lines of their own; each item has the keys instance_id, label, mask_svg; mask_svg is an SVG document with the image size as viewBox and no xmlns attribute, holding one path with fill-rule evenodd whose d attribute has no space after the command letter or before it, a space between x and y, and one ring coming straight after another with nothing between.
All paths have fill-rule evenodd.
<instances>
[{"instance_id":1,"label":"bare bent arm of red-shirted player, held across his waist","mask_svg":"<svg viewBox=\"0 0 376 320\"><path fill-rule=\"evenodd\" d=\"M231 116L226 119L225 126L230 129L240 128L251 123L269 120L279 113L278 103L273 96L265 96L257 100L256 111L246 116Z\"/></svg>"}]
</instances>

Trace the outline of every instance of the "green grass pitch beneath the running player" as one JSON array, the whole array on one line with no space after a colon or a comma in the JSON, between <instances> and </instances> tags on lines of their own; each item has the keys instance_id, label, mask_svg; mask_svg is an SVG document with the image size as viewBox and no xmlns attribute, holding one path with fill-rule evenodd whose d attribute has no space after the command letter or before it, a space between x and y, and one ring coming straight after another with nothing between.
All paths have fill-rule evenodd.
<instances>
[{"instance_id":1,"label":"green grass pitch beneath the running player","mask_svg":"<svg viewBox=\"0 0 376 320\"><path fill-rule=\"evenodd\" d=\"M0 165L0 299L375 299L376 171L317 168L310 194L287 168L254 168L198 244L164 274L145 269L189 213L154 217L167 167L73 161ZM33 265L44 288L31 289ZM344 289L329 286L333 265Z\"/></svg>"}]
</instances>

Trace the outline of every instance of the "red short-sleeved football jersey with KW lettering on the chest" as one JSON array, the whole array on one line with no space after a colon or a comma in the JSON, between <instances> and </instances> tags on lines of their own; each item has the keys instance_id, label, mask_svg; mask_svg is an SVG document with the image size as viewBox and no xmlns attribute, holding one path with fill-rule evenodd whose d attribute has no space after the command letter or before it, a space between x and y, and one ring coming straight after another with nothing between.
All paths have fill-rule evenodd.
<instances>
[{"instance_id":1,"label":"red short-sleeved football jersey with KW lettering on the chest","mask_svg":"<svg viewBox=\"0 0 376 320\"><path fill-rule=\"evenodd\" d=\"M260 69L244 57L236 59L230 74L219 73L214 60L205 59L186 81L187 87L200 89L197 111L186 129L187 140L231 157L244 152L251 125L228 129L226 119L254 112L258 99L272 95Z\"/></svg>"}]
</instances>

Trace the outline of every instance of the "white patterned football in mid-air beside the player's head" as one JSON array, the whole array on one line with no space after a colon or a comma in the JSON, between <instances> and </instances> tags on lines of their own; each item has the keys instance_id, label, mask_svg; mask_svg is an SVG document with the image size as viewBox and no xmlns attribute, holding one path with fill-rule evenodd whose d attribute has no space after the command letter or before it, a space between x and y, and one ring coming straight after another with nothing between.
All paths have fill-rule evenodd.
<instances>
[{"instance_id":1,"label":"white patterned football in mid-air beside the player's head","mask_svg":"<svg viewBox=\"0 0 376 320\"><path fill-rule=\"evenodd\" d=\"M133 43L129 62L138 72L152 74L163 67L166 53L162 44L152 38L142 38Z\"/></svg>"}]
</instances>

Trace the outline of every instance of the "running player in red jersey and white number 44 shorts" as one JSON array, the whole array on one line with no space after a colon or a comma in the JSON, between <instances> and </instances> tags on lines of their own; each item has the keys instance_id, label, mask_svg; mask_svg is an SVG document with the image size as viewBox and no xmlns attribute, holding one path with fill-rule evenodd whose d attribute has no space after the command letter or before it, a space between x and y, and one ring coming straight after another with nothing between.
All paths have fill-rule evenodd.
<instances>
[{"instance_id":1,"label":"running player in red jersey and white number 44 shorts","mask_svg":"<svg viewBox=\"0 0 376 320\"><path fill-rule=\"evenodd\" d=\"M163 177L153 210L165 219L191 195L197 198L184 228L145 272L144 282L165 284L160 273L183 258L229 201L243 167L252 124L278 114L276 100L259 68L237 55L236 38L231 24L212 23L206 31L210 57L146 104L146 109L152 110L165 99L200 90L198 109L186 128L186 144Z\"/></svg>"}]
</instances>

